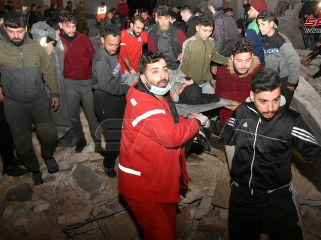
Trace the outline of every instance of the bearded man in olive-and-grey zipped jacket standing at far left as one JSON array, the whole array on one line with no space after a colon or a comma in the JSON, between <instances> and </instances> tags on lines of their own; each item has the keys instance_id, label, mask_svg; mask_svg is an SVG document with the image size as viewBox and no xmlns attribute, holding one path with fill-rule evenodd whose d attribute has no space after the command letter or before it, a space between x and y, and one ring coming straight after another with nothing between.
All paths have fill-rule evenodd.
<instances>
[{"instance_id":1,"label":"bearded man in olive-and-grey zipped jacket standing at far left","mask_svg":"<svg viewBox=\"0 0 321 240\"><path fill-rule=\"evenodd\" d=\"M51 91L51 106L59 107L57 82L48 54L39 42L29 39L26 17L18 12L5 15L0 25L0 99L16 151L33 173L35 185L43 183L38 158L32 142L32 123L40 137L41 156L48 172L59 170L53 158L57 130L51 122L50 103L44 84Z\"/></svg>"}]
</instances>

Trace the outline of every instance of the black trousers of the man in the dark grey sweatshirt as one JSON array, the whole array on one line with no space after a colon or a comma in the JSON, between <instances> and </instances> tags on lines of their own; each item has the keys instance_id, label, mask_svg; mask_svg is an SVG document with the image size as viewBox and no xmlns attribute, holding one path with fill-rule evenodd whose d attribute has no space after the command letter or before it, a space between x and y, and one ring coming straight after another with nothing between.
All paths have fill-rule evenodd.
<instances>
[{"instance_id":1,"label":"black trousers of the man in the dark grey sweatshirt","mask_svg":"<svg viewBox=\"0 0 321 240\"><path fill-rule=\"evenodd\" d=\"M104 166L114 168L120 151L121 126L125 111L125 96L115 96L100 90L94 92L94 109L106 140Z\"/></svg>"}]
</instances>

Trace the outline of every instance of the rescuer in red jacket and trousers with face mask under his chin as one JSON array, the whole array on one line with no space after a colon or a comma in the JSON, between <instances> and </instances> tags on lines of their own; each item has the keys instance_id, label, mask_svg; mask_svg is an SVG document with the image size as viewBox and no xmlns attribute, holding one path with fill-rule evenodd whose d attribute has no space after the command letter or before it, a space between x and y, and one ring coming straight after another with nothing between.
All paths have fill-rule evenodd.
<instances>
[{"instance_id":1,"label":"rescuer in red jacket and trousers with face mask under his chin","mask_svg":"<svg viewBox=\"0 0 321 240\"><path fill-rule=\"evenodd\" d=\"M162 53L144 54L139 73L126 94L118 188L145 240L175 240L179 188L188 182L184 143L208 121L177 115Z\"/></svg>"}]
</instances>

